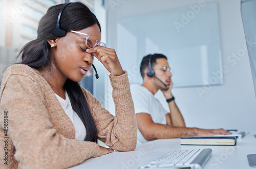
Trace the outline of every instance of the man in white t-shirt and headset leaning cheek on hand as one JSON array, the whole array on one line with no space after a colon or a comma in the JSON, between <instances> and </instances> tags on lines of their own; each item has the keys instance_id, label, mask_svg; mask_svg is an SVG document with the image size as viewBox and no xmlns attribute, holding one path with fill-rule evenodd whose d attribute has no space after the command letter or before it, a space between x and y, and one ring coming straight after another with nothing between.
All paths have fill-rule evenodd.
<instances>
[{"instance_id":1,"label":"man in white t-shirt and headset leaning cheek on hand","mask_svg":"<svg viewBox=\"0 0 256 169\"><path fill-rule=\"evenodd\" d=\"M140 73L143 83L131 86L138 124L137 144L160 138L231 134L224 129L186 128L183 116L171 92L172 73L170 73L167 58L164 55L154 54L143 57ZM154 97L159 89L166 98L169 112Z\"/></svg>"}]
</instances>

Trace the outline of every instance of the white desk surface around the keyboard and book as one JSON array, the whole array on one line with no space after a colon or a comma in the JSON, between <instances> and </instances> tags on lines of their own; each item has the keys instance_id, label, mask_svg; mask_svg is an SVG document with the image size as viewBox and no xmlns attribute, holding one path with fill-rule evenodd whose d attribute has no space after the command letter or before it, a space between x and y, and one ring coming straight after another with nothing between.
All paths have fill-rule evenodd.
<instances>
[{"instance_id":1,"label":"white desk surface around the keyboard and book","mask_svg":"<svg viewBox=\"0 0 256 169\"><path fill-rule=\"evenodd\" d=\"M132 152L114 151L107 155L88 159L71 168L139 168L170 151L210 148L212 149L212 154L203 169L252 169L253 167L249 166L247 154L256 154L256 138L253 136L254 134L256 134L256 131L251 131L242 139L238 139L236 146L181 146L179 138L159 139L140 144Z\"/></svg>"}]
</instances>

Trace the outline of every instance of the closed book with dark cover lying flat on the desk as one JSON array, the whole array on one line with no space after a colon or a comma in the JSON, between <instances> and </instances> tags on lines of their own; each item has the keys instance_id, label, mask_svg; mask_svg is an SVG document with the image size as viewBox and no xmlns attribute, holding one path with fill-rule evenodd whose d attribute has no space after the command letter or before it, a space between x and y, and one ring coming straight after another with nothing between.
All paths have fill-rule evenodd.
<instances>
[{"instance_id":1,"label":"closed book with dark cover lying flat on the desk","mask_svg":"<svg viewBox=\"0 0 256 169\"><path fill-rule=\"evenodd\" d=\"M219 146L235 146L237 137L225 136L209 136L209 137L183 137L180 139L181 145L219 145Z\"/></svg>"}]
</instances>

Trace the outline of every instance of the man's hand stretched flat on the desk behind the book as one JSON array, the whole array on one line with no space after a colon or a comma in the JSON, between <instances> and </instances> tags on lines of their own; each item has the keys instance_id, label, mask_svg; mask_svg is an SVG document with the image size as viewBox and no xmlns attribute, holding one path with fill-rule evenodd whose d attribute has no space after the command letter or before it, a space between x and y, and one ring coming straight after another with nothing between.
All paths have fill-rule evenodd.
<instances>
[{"instance_id":1,"label":"man's hand stretched flat on the desk behind the book","mask_svg":"<svg viewBox=\"0 0 256 169\"><path fill-rule=\"evenodd\" d=\"M196 136L214 136L232 134L224 129L199 129L196 128Z\"/></svg>"}]
</instances>

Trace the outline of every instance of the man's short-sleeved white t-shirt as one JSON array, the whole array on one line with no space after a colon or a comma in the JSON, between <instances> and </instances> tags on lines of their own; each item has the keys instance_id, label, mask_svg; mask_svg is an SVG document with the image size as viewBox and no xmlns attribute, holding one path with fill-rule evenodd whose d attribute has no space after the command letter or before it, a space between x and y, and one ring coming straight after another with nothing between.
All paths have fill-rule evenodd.
<instances>
[{"instance_id":1,"label":"man's short-sleeved white t-shirt","mask_svg":"<svg viewBox=\"0 0 256 169\"><path fill-rule=\"evenodd\" d=\"M131 93L135 108L135 114L148 113L151 115L153 122L166 125L167 112L154 94L141 85L131 85ZM138 130L137 145L147 142L141 132Z\"/></svg>"}]
</instances>

